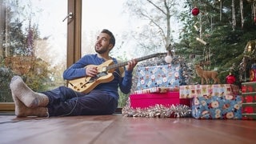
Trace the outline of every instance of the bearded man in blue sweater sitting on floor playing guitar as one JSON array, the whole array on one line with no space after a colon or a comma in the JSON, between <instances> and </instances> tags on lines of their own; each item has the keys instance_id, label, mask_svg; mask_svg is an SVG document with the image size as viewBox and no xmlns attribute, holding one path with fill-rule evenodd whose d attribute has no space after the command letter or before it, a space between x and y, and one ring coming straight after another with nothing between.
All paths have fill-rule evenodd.
<instances>
[{"instance_id":1,"label":"bearded man in blue sweater sitting on floor playing guitar","mask_svg":"<svg viewBox=\"0 0 256 144\"><path fill-rule=\"evenodd\" d=\"M114 35L109 30L102 30L94 46L96 54L83 56L64 71L63 78L66 80L85 76L94 78L98 74L96 66L110 59L118 63L109 55L114 44ZM88 94L66 86L38 93L26 86L21 77L14 76L10 82L10 90L15 102L15 114L17 117L113 114L118 106L118 86L123 93L130 92L132 71L136 64L135 60L128 62L124 77L121 77L119 69L114 70L112 81L98 84ZM85 67L87 65L94 66Z\"/></svg>"}]
</instances>

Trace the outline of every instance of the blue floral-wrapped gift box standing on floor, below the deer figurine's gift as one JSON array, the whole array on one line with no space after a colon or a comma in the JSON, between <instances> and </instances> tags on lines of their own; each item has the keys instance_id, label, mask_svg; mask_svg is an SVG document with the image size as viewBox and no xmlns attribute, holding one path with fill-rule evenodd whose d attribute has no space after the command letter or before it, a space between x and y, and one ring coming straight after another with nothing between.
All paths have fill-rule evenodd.
<instances>
[{"instance_id":1,"label":"blue floral-wrapped gift box standing on floor, below the deer figurine's gift","mask_svg":"<svg viewBox=\"0 0 256 144\"><path fill-rule=\"evenodd\" d=\"M194 97L192 117L198 119L242 119L242 96Z\"/></svg>"}]
</instances>

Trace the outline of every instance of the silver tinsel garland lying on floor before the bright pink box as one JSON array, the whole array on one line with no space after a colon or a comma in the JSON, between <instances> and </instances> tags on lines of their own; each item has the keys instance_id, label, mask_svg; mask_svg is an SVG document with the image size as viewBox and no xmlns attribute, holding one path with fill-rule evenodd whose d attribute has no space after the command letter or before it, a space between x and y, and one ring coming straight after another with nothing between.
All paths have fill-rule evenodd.
<instances>
[{"instance_id":1,"label":"silver tinsel garland lying on floor before the bright pink box","mask_svg":"<svg viewBox=\"0 0 256 144\"><path fill-rule=\"evenodd\" d=\"M190 106L171 105L163 106L156 104L147 108L131 108L130 102L122 108L122 115L126 117L145 117L145 118L186 118L190 117Z\"/></svg>"}]
</instances>

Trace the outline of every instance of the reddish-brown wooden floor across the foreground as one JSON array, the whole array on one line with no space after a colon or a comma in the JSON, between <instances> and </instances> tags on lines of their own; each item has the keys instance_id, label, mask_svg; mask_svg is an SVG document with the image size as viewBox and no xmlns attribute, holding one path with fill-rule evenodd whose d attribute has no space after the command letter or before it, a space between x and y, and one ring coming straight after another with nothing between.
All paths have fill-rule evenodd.
<instances>
[{"instance_id":1,"label":"reddish-brown wooden floor across the foreground","mask_svg":"<svg viewBox=\"0 0 256 144\"><path fill-rule=\"evenodd\" d=\"M0 115L0 143L256 143L256 121L132 118L121 114L57 118Z\"/></svg>"}]
</instances>

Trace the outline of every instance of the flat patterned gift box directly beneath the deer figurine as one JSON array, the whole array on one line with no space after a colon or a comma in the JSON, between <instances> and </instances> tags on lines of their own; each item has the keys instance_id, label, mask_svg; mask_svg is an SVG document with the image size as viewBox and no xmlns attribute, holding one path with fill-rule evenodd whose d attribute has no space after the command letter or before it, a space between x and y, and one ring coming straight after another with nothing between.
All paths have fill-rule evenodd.
<instances>
[{"instance_id":1,"label":"flat patterned gift box directly beneath the deer figurine","mask_svg":"<svg viewBox=\"0 0 256 144\"><path fill-rule=\"evenodd\" d=\"M238 95L239 86L234 84L179 86L180 98Z\"/></svg>"}]
</instances>

